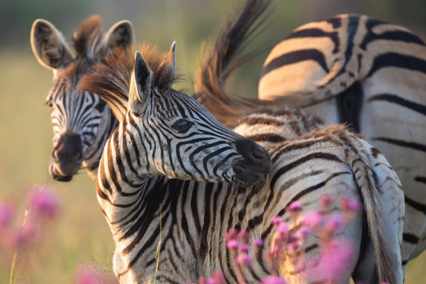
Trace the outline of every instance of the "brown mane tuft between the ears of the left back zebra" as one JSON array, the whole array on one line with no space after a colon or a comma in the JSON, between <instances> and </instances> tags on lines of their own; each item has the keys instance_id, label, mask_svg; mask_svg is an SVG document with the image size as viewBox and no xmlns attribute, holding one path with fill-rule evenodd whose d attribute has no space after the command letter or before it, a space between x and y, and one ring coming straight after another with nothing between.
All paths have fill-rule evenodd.
<instances>
[{"instance_id":1,"label":"brown mane tuft between the ears of the left back zebra","mask_svg":"<svg viewBox=\"0 0 426 284\"><path fill-rule=\"evenodd\" d=\"M77 56L86 56L91 59L95 55L97 47L104 38L102 21L99 15L91 15L81 22L79 29L72 36L72 47Z\"/></svg>"}]
</instances>

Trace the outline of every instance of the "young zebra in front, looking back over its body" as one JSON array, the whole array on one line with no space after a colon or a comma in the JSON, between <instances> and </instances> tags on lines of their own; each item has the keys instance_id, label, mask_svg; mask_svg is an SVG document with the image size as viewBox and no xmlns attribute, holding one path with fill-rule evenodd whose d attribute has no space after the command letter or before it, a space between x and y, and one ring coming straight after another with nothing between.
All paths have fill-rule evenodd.
<instances>
[{"instance_id":1,"label":"young zebra in front, looking back over its body","mask_svg":"<svg viewBox=\"0 0 426 284\"><path fill-rule=\"evenodd\" d=\"M283 214L288 219L285 207L296 199L304 210L317 209L324 193L364 203L364 212L336 237L340 245L343 237L351 239L355 251L334 283L347 283L351 275L366 283L375 278L402 283L397 233L402 228L402 191L388 203L389 212L379 204L379 191L386 192L398 180L388 175L386 159L372 164L378 152L368 143L343 126L331 126L270 147L271 168L260 146L171 88L174 45L169 54L150 46L136 52L134 61L132 54L131 49L116 49L81 82L81 88L106 100L120 121L97 176L100 207L116 242L113 266L120 283L154 278L159 283L194 282L217 269L236 283L226 232L249 230L265 239L269 250L274 241L271 218ZM318 242L316 236L308 239L305 258L317 257ZM249 283L268 274L265 267L257 258L246 271ZM293 283L329 281L287 269Z\"/></svg>"}]
</instances>

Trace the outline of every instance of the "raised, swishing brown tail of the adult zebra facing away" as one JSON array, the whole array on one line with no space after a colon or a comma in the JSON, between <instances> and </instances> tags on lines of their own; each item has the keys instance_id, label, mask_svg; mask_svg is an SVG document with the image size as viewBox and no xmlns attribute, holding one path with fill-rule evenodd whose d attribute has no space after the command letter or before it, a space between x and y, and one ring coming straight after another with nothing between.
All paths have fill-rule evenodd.
<instances>
[{"instance_id":1,"label":"raised, swishing brown tail of the adult zebra facing away","mask_svg":"<svg viewBox=\"0 0 426 284\"><path fill-rule=\"evenodd\" d=\"M194 82L195 97L221 123L235 125L245 113L277 102L230 95L226 81L239 66L249 61L256 52L241 55L248 40L258 34L265 23L265 10L270 0L247 0L238 17L228 14L213 47L201 58ZM255 24L257 23L257 24ZM239 54L239 56L236 56Z\"/></svg>"}]
</instances>

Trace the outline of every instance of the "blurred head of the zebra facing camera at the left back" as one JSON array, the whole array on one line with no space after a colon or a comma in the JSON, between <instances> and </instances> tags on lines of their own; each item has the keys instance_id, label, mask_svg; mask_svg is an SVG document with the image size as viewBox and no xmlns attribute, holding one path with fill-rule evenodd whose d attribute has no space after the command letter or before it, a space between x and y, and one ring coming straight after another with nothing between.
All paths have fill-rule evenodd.
<instances>
[{"instance_id":1,"label":"blurred head of the zebra facing camera at the left back","mask_svg":"<svg viewBox=\"0 0 426 284\"><path fill-rule=\"evenodd\" d=\"M114 24L107 34L102 31L100 17L91 16L74 33L76 56L53 24L37 19L31 29L31 47L38 62L53 70L52 88L46 104L53 124L53 150L49 175L68 181L81 165L95 178L97 161L116 120L104 101L95 93L77 88L81 77L102 56L119 45L132 45L132 23Z\"/></svg>"}]
</instances>

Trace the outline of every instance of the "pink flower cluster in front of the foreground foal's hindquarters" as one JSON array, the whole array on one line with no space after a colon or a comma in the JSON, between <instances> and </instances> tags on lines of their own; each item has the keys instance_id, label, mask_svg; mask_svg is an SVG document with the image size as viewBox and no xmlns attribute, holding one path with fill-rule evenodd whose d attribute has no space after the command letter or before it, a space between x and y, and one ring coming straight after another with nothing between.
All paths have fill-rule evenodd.
<instances>
[{"instance_id":1,"label":"pink flower cluster in front of the foreground foal's hindquarters","mask_svg":"<svg viewBox=\"0 0 426 284\"><path fill-rule=\"evenodd\" d=\"M263 257L270 271L269 276L262 278L263 284L285 284L290 282L287 276L295 274L313 278L323 276L330 281L335 278L354 257L353 245L340 235L362 205L351 198L340 198L339 211L335 200L325 195L319 199L319 206L320 210L303 212L301 203L291 203L285 208L287 220L282 216L271 220L275 232L267 245L263 239L251 239L245 230L230 230L226 234L226 247L234 259L238 283L246 283L245 272L254 259L259 259L258 255ZM316 258L305 257L306 241L310 236L319 240L320 253ZM216 275L221 277L201 278L199 282L223 283L223 274Z\"/></svg>"}]
</instances>

